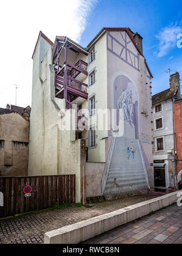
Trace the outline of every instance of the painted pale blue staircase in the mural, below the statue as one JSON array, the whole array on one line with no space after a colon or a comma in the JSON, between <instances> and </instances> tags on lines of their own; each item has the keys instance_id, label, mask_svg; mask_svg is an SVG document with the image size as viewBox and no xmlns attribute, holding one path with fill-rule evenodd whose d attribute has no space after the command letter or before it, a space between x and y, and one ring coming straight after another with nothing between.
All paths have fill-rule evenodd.
<instances>
[{"instance_id":1,"label":"painted pale blue staircase in the mural, below the statue","mask_svg":"<svg viewBox=\"0 0 182 256\"><path fill-rule=\"evenodd\" d=\"M135 157L130 153L127 159L127 147L131 142L135 146ZM147 189L148 178L140 141L127 137L116 137L106 173L104 195L116 195Z\"/></svg>"}]
</instances>

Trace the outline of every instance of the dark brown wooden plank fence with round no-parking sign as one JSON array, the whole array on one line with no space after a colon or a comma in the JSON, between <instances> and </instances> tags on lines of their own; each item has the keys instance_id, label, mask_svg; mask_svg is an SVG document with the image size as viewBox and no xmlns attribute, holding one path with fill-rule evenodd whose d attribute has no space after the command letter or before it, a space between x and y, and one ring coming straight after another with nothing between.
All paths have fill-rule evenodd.
<instances>
[{"instance_id":1,"label":"dark brown wooden plank fence with round no-parking sign","mask_svg":"<svg viewBox=\"0 0 182 256\"><path fill-rule=\"evenodd\" d=\"M32 187L28 197L23 191L26 185ZM0 192L4 195L0 218L64 202L75 203L75 175L0 177Z\"/></svg>"}]
</instances>

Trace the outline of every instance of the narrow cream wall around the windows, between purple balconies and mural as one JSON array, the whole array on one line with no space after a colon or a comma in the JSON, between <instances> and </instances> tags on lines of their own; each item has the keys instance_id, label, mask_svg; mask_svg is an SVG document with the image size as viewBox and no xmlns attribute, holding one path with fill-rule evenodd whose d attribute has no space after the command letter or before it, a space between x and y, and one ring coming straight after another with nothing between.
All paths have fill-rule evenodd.
<instances>
[{"instance_id":1,"label":"narrow cream wall around the windows, between purple balconies and mural","mask_svg":"<svg viewBox=\"0 0 182 256\"><path fill-rule=\"evenodd\" d=\"M95 60L89 63L89 57L87 58L88 74L95 70L95 83L88 87L88 103L89 98L95 95L95 108L96 109L107 109L107 44L106 44L106 33L99 38L95 43ZM92 48L91 48L92 49ZM90 49L90 50L91 50ZM84 83L89 85L89 77L84 80ZM88 108L88 103L84 102L83 108ZM105 140L101 140L108 136L107 130L98 130L96 125L96 115L91 117L90 126L96 126L96 147L89 148L88 150L88 161L89 162L105 162ZM84 139L87 140L88 146L88 134L84 133Z\"/></svg>"}]
</instances>

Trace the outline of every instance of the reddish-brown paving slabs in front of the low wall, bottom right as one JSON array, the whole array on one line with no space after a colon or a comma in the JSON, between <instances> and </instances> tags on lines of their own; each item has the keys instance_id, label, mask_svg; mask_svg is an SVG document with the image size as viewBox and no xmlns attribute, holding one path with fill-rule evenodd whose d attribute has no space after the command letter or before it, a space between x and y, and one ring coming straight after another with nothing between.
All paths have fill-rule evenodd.
<instances>
[{"instance_id":1,"label":"reddish-brown paving slabs in front of the low wall, bottom right","mask_svg":"<svg viewBox=\"0 0 182 256\"><path fill-rule=\"evenodd\" d=\"M182 244L182 206L158 210L91 238L84 244Z\"/></svg>"}]
</instances>

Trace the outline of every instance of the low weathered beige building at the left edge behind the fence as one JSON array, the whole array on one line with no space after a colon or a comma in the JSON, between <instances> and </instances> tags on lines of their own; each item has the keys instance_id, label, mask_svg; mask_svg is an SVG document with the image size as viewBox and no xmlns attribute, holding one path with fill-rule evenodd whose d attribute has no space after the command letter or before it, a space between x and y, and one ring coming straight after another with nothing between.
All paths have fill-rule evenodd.
<instances>
[{"instance_id":1,"label":"low weathered beige building at the left edge behind the fence","mask_svg":"<svg viewBox=\"0 0 182 256\"><path fill-rule=\"evenodd\" d=\"M0 108L0 176L26 176L30 106Z\"/></svg>"}]
</instances>

